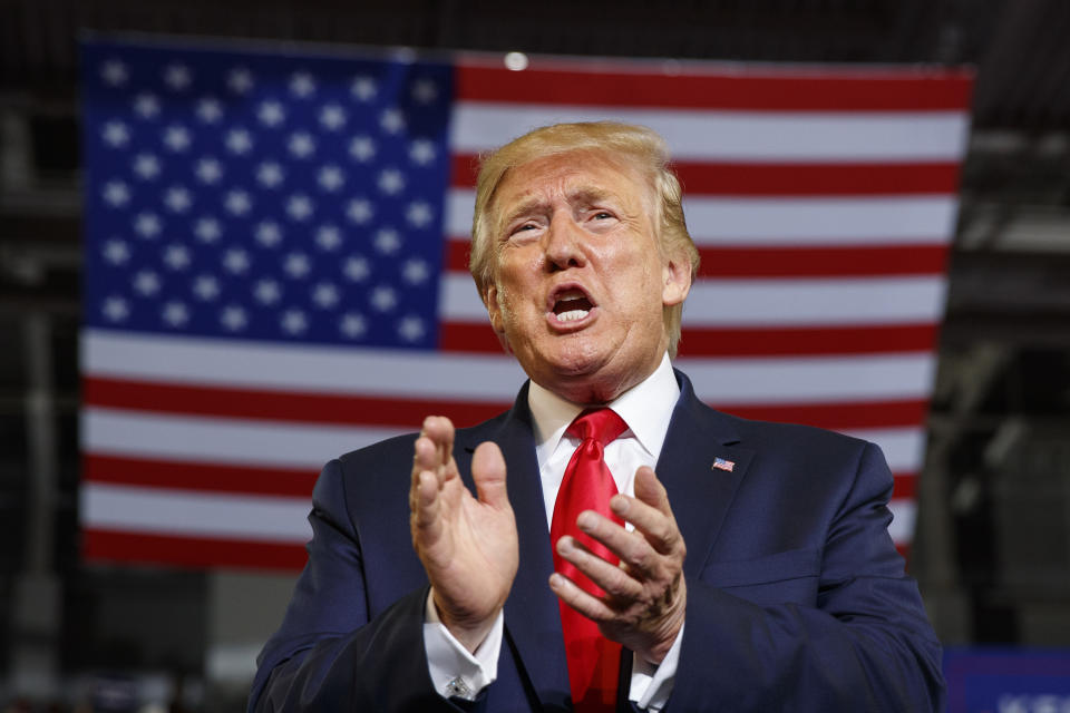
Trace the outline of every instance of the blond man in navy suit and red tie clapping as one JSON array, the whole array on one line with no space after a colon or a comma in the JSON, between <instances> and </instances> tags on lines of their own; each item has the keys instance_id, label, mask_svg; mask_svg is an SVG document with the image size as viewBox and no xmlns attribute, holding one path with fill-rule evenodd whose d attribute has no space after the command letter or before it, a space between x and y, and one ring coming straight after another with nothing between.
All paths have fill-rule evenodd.
<instances>
[{"instance_id":1,"label":"blond man in navy suit and red tie clapping","mask_svg":"<svg viewBox=\"0 0 1070 713\"><path fill-rule=\"evenodd\" d=\"M251 711L941 706L879 450L671 369L698 253L667 164L619 124L484 160L471 272L531 380L324 468Z\"/></svg>"}]
</instances>

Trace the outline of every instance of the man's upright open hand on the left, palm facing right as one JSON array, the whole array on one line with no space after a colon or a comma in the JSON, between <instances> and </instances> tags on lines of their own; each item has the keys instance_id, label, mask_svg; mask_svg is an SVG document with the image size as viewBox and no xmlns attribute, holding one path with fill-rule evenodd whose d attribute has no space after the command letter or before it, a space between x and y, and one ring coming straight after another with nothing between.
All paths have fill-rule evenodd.
<instances>
[{"instance_id":1,"label":"man's upright open hand on the left, palm facing right","mask_svg":"<svg viewBox=\"0 0 1070 713\"><path fill-rule=\"evenodd\" d=\"M494 443L476 449L471 460L476 499L457 472L449 419L426 418L415 451L409 490L412 547L431 582L442 623L474 652L505 605L519 558L505 459Z\"/></svg>"}]
</instances>

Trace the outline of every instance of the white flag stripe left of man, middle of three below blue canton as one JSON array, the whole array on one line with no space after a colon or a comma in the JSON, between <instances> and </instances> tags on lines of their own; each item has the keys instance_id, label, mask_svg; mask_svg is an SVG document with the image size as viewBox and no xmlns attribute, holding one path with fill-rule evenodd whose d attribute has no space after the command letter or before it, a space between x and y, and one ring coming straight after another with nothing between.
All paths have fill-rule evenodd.
<instances>
[{"instance_id":1,"label":"white flag stripe left of man, middle of three below blue canton","mask_svg":"<svg viewBox=\"0 0 1070 713\"><path fill-rule=\"evenodd\" d=\"M81 411L81 447L86 452L268 468L319 470L347 451L416 430L419 423L410 429L388 429L165 416L103 407Z\"/></svg>"}]
</instances>

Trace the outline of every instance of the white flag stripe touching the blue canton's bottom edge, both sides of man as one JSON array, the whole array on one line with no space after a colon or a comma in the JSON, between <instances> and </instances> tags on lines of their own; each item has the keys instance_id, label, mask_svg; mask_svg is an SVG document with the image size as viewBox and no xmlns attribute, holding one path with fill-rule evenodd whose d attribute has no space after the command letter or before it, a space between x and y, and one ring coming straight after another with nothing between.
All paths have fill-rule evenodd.
<instances>
[{"instance_id":1,"label":"white flag stripe touching the blue canton's bottom edge, both sides of man","mask_svg":"<svg viewBox=\"0 0 1070 713\"><path fill-rule=\"evenodd\" d=\"M169 384L510 403L525 379L505 354L349 353L96 330L84 331L81 343L87 377ZM701 398L747 404L926 398L934 359L930 353L681 358L678 364Z\"/></svg>"}]
</instances>

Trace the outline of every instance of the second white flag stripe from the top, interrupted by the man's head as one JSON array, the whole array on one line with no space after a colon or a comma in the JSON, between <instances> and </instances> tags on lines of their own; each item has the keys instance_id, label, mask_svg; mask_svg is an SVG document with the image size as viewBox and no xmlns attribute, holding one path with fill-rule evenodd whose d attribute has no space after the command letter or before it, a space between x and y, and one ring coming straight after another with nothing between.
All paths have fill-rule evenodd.
<instances>
[{"instance_id":1,"label":"second white flag stripe from the top, interrupted by the man's head","mask_svg":"<svg viewBox=\"0 0 1070 713\"><path fill-rule=\"evenodd\" d=\"M475 193L451 188L446 234L471 233ZM697 245L882 245L950 242L959 208L954 196L684 199Z\"/></svg>"}]
</instances>

